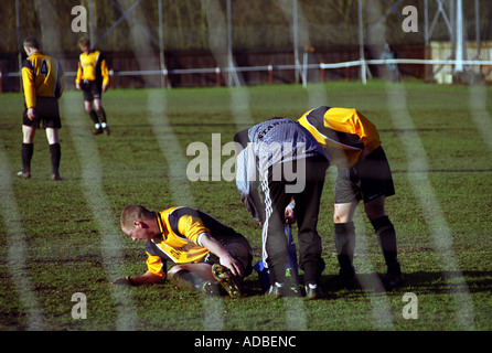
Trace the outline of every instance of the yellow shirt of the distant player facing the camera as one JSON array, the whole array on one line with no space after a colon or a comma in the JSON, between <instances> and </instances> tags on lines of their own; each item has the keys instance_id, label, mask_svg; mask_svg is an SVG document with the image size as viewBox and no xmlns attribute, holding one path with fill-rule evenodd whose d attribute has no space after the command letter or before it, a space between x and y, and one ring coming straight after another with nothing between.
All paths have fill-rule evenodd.
<instances>
[{"instance_id":1,"label":"yellow shirt of the distant player facing the camera","mask_svg":"<svg viewBox=\"0 0 492 353\"><path fill-rule=\"evenodd\" d=\"M75 84L82 82L95 82L103 86L109 85L109 71L101 52L94 50L88 54L81 54Z\"/></svg>"}]
</instances>

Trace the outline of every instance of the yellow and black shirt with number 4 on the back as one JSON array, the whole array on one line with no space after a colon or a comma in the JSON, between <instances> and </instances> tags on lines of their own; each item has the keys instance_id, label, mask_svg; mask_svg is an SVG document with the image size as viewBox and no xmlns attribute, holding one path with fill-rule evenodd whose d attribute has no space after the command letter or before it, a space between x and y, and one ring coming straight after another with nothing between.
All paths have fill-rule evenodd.
<instances>
[{"instance_id":1,"label":"yellow and black shirt with number 4 on the back","mask_svg":"<svg viewBox=\"0 0 492 353\"><path fill-rule=\"evenodd\" d=\"M25 108L35 108L36 98L56 98L63 94L63 69L58 61L36 52L22 64Z\"/></svg>"}]
</instances>

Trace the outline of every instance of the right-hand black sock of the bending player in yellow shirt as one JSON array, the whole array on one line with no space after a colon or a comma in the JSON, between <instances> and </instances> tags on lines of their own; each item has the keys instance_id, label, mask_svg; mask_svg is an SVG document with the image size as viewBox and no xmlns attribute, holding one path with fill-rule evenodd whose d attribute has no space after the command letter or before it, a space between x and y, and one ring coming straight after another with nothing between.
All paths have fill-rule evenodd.
<instances>
[{"instance_id":1,"label":"right-hand black sock of the bending player in yellow shirt","mask_svg":"<svg viewBox=\"0 0 492 353\"><path fill-rule=\"evenodd\" d=\"M379 217L372 222L377 235L379 248L383 252L384 260L388 272L399 274L399 263L397 260L396 232L393 223L387 216Z\"/></svg>"}]
</instances>

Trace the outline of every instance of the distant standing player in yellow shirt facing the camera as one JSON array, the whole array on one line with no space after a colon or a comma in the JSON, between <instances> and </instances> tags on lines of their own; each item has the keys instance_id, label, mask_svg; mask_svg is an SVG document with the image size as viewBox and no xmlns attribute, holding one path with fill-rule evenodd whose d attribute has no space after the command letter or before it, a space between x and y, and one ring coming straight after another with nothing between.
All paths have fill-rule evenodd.
<instances>
[{"instance_id":1,"label":"distant standing player in yellow shirt facing the camera","mask_svg":"<svg viewBox=\"0 0 492 353\"><path fill-rule=\"evenodd\" d=\"M84 93L84 106L94 122L94 135L109 135L106 113L101 105L103 92L109 87L109 73L101 52L90 49L90 41L82 38L78 41L82 54L78 60L75 87ZM94 108L93 108L94 103Z\"/></svg>"}]
</instances>

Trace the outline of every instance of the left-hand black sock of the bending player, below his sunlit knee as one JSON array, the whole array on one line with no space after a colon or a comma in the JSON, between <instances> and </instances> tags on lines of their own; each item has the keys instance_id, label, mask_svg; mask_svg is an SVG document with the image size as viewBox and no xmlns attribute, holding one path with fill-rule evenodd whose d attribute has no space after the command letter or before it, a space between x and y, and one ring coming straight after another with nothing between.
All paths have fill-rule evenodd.
<instances>
[{"instance_id":1,"label":"left-hand black sock of the bending player, below his sunlit knee","mask_svg":"<svg viewBox=\"0 0 492 353\"><path fill-rule=\"evenodd\" d=\"M340 274L353 276L354 249L355 249L355 226L353 222L335 223L335 247L336 257L340 264Z\"/></svg>"}]
</instances>

